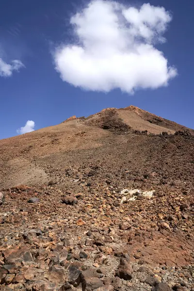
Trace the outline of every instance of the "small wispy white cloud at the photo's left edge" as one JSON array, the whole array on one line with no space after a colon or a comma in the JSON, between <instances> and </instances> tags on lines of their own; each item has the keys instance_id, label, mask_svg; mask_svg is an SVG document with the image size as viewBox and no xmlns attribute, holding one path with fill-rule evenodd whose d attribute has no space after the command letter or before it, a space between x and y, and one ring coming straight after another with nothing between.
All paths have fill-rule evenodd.
<instances>
[{"instance_id":1,"label":"small wispy white cloud at the photo's left edge","mask_svg":"<svg viewBox=\"0 0 194 291\"><path fill-rule=\"evenodd\" d=\"M0 58L0 76L10 77L13 71L19 71L20 68L24 67L21 61L13 60L11 64L7 64Z\"/></svg>"}]
</instances>

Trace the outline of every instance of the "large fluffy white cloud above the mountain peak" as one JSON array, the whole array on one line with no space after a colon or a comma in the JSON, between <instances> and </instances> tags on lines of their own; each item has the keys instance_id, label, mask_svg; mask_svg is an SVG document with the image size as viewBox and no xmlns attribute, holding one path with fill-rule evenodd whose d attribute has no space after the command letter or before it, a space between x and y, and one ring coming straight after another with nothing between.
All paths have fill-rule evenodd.
<instances>
[{"instance_id":1,"label":"large fluffy white cloud above the mountain peak","mask_svg":"<svg viewBox=\"0 0 194 291\"><path fill-rule=\"evenodd\" d=\"M149 3L140 8L116 1L92 0L70 19L75 42L57 47L55 68L63 81L86 90L166 86L177 75L156 44L172 16Z\"/></svg>"}]
</instances>

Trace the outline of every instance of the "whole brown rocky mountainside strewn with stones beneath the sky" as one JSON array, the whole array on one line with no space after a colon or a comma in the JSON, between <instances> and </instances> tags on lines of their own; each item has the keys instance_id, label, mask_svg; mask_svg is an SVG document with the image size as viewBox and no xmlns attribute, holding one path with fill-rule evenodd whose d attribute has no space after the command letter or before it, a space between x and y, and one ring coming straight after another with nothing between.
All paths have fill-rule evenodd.
<instances>
[{"instance_id":1,"label":"whole brown rocky mountainside strewn with stones beneath the sky","mask_svg":"<svg viewBox=\"0 0 194 291\"><path fill-rule=\"evenodd\" d=\"M72 116L0 140L0 189L1 290L194 290L193 129Z\"/></svg>"}]
</instances>

